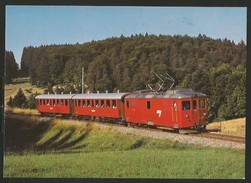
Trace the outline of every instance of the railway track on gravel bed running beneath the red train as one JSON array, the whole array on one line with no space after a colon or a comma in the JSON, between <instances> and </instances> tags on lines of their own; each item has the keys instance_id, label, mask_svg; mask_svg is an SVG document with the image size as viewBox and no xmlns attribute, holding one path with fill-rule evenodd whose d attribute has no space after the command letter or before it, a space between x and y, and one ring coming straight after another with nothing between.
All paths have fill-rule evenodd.
<instances>
[{"instance_id":1,"label":"railway track on gravel bed running beneath the red train","mask_svg":"<svg viewBox=\"0 0 251 183\"><path fill-rule=\"evenodd\" d=\"M22 113L11 113L11 112L6 112L5 115L11 115L11 116L19 116L19 117L33 117L33 118L41 118L40 115L38 114L22 114ZM43 117L44 118L44 117ZM48 119L54 119L57 117L45 117ZM62 118L61 118L62 119ZM64 119L67 120L67 119ZM89 121L83 121L83 120L77 120L80 122L89 122ZM98 121L91 121L91 123L94 124L102 124L106 125L108 127L123 127L121 124L117 123L110 123L110 122L98 122ZM245 144L246 139L245 137L240 137L240 136L232 136L232 135L226 135L226 134L221 134L218 132L210 132L210 131L205 131L202 133L185 133L185 134L179 134L175 132L174 130L171 129L158 129L158 128L146 128L143 126L130 126L127 128L134 128L135 130L147 130L149 132L164 132L167 134L173 134L173 135L182 135L182 136L193 136L193 137L198 137L198 138L207 138L207 139L217 139L217 140L222 140L222 141L228 141L228 142L235 142L235 143L240 143L240 144Z\"/></svg>"}]
</instances>

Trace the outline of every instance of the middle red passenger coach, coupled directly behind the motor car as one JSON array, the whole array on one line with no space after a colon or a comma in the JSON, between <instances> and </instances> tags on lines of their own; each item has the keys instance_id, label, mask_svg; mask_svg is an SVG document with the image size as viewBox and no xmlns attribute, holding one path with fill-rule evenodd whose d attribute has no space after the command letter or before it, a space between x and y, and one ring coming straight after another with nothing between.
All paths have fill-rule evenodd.
<instances>
[{"instance_id":1,"label":"middle red passenger coach, coupled directly behind the motor car","mask_svg":"<svg viewBox=\"0 0 251 183\"><path fill-rule=\"evenodd\" d=\"M72 97L74 115L125 119L124 97L129 93L77 94Z\"/></svg>"}]
</instances>

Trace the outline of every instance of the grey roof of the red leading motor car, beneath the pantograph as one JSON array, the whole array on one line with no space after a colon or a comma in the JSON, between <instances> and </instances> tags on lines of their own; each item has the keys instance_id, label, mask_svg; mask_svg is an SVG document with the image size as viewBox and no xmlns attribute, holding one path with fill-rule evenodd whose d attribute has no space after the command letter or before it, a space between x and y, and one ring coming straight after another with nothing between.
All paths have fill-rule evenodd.
<instances>
[{"instance_id":1,"label":"grey roof of the red leading motor car, beneath the pantograph","mask_svg":"<svg viewBox=\"0 0 251 183\"><path fill-rule=\"evenodd\" d=\"M191 88L177 88L166 92L134 92L126 98L189 98L205 97L206 94L194 92Z\"/></svg>"}]
</instances>

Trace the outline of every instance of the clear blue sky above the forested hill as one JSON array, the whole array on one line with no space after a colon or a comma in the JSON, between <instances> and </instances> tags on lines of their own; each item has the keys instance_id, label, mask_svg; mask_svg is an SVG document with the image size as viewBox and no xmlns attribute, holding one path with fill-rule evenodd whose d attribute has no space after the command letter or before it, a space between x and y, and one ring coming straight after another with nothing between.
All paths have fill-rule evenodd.
<instances>
[{"instance_id":1,"label":"clear blue sky above the forested hill","mask_svg":"<svg viewBox=\"0 0 251 183\"><path fill-rule=\"evenodd\" d=\"M24 47L76 44L132 34L247 38L245 7L6 6L6 50L20 64Z\"/></svg>"}]
</instances>

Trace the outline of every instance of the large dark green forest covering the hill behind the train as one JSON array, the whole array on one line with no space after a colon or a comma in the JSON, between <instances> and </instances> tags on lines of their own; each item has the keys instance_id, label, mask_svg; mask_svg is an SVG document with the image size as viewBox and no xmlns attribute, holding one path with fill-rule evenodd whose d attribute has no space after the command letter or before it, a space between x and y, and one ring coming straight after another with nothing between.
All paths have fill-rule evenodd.
<instances>
[{"instance_id":1,"label":"large dark green forest covering the hill behind the train","mask_svg":"<svg viewBox=\"0 0 251 183\"><path fill-rule=\"evenodd\" d=\"M209 120L218 121L246 115L246 62L244 41L146 33L83 44L28 46L21 70L31 84L57 93L81 92L82 67L86 92L142 90L154 73L168 73L174 88L207 94Z\"/></svg>"}]
</instances>

